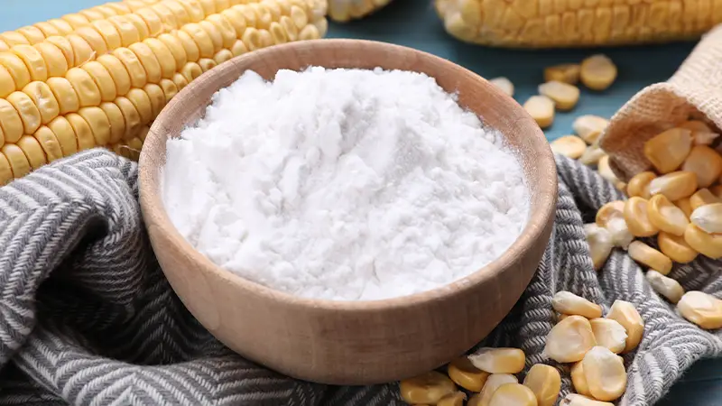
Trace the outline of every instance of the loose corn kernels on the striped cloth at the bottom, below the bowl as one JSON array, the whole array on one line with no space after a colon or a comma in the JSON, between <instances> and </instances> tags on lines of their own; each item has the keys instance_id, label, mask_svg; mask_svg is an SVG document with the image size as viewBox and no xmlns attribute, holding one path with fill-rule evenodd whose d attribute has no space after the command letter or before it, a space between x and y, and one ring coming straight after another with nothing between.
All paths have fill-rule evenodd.
<instances>
[{"instance_id":1,"label":"loose corn kernels on the striped cloth at the bottom, below the bowl","mask_svg":"<svg viewBox=\"0 0 722 406\"><path fill-rule=\"evenodd\" d=\"M546 338L544 355L571 365L577 393L563 406L611 406L626 388L626 370L617 354L634 350L642 341L644 323L634 305L616 300L602 318L602 307L569 291L551 301L559 322ZM438 406L553 406L561 390L559 370L534 364L523 383L526 356L518 348L478 349L447 365L447 374L432 371L404 380L399 389L409 404Z\"/></svg>"}]
</instances>

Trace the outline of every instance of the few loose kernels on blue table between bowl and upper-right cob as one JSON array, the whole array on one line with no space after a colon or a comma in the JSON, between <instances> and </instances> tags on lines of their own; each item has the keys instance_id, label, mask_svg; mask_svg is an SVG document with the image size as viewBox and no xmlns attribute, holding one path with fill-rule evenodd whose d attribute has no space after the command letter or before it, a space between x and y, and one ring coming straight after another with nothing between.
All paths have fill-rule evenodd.
<instances>
[{"instance_id":1,"label":"few loose kernels on blue table between bowl and upper-right cob","mask_svg":"<svg viewBox=\"0 0 722 406\"><path fill-rule=\"evenodd\" d=\"M536 123L547 128L554 123L557 110L569 111L579 102L579 81L592 90L605 90L616 80L616 65L605 55L597 54L580 64L567 63L544 69L545 82L539 85L539 95L529 97L524 109ZM508 78L493 78L489 82L514 96L514 84Z\"/></svg>"}]
</instances>

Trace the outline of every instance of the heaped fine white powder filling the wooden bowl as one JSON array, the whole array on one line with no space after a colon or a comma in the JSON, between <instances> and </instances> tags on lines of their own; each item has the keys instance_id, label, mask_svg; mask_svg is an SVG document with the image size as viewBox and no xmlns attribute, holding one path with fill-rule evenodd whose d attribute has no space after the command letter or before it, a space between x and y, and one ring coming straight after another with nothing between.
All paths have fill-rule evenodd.
<instances>
[{"instance_id":1,"label":"heaped fine white powder filling the wooden bowl","mask_svg":"<svg viewBox=\"0 0 722 406\"><path fill-rule=\"evenodd\" d=\"M200 253L294 295L427 291L504 253L527 220L521 165L433 78L246 72L168 141L162 198Z\"/></svg>"}]
</instances>

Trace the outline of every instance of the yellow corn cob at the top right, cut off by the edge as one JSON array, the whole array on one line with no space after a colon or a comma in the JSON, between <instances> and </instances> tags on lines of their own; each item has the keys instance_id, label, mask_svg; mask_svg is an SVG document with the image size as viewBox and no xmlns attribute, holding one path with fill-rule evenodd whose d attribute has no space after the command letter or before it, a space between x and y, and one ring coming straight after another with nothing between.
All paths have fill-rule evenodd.
<instances>
[{"instance_id":1,"label":"yellow corn cob at the top right, cut off by the edge","mask_svg":"<svg viewBox=\"0 0 722 406\"><path fill-rule=\"evenodd\" d=\"M669 42L722 22L716 0L558 2L435 0L449 34L499 47L551 48Z\"/></svg>"}]
</instances>

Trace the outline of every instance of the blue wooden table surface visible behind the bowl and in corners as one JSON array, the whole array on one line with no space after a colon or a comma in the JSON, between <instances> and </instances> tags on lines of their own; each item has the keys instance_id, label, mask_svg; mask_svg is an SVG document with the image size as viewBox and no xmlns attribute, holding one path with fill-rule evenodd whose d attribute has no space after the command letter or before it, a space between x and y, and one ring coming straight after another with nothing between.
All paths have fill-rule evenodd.
<instances>
[{"instance_id":1,"label":"blue wooden table surface visible behind the bowl and in corners","mask_svg":"<svg viewBox=\"0 0 722 406\"><path fill-rule=\"evenodd\" d=\"M0 1L0 32L105 3L104 0ZM393 42L453 60L485 78L505 76L514 82L514 97L520 103L536 94L536 88L542 82L544 67L577 62L597 52L605 53L619 68L615 84L602 93L582 89L579 105L574 111L558 114L554 125L546 131L550 140L570 134L571 123L576 116L613 115L640 89L669 78L694 47L694 42L682 42L594 50L515 51L484 48L450 38L434 14L431 2L420 0L394 0L384 10L364 20L344 25L332 23L328 36ZM658 405L722 405L722 359L699 361Z\"/></svg>"}]
</instances>

